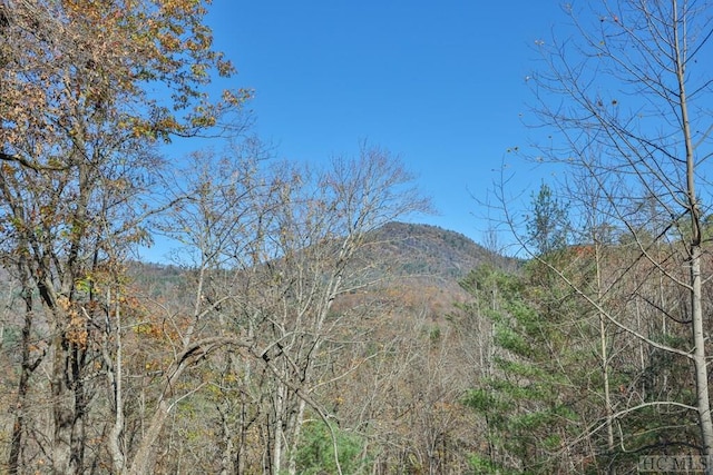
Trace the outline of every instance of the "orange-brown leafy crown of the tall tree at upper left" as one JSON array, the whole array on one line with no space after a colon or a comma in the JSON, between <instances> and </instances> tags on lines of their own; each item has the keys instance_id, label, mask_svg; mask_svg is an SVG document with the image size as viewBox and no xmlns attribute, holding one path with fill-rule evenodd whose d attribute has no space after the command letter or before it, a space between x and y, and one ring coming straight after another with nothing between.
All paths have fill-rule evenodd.
<instances>
[{"instance_id":1,"label":"orange-brown leafy crown of the tall tree at upper left","mask_svg":"<svg viewBox=\"0 0 713 475\"><path fill-rule=\"evenodd\" d=\"M65 128L68 121L105 120L105 130L116 128L138 142L195 135L247 99L238 91L211 105L202 93L214 72L225 77L234 68L211 49L201 1L62 0L51 11L45 7L41 0L18 2L0 39L0 140L9 152L39 159L62 140L86 141ZM156 82L168 89L160 103L146 88L155 90ZM205 113L197 112L203 102Z\"/></svg>"}]
</instances>

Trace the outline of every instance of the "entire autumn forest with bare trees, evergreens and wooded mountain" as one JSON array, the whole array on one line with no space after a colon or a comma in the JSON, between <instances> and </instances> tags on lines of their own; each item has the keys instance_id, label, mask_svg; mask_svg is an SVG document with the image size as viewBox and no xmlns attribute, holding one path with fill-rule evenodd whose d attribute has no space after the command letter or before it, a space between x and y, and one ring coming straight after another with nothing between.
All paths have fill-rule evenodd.
<instances>
[{"instance_id":1,"label":"entire autumn forest with bare trees, evergreens and wooded mountain","mask_svg":"<svg viewBox=\"0 0 713 475\"><path fill-rule=\"evenodd\" d=\"M387 148L271 158L208 3L0 0L2 473L713 466L709 2L564 6L515 151L557 174L487 246Z\"/></svg>"}]
</instances>

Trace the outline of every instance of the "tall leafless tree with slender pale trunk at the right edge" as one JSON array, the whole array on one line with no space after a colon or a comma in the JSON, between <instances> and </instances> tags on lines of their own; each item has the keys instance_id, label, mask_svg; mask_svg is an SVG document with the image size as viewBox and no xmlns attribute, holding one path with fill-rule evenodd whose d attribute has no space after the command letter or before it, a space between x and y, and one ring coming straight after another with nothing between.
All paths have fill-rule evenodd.
<instances>
[{"instance_id":1,"label":"tall leafless tree with slender pale trunk at the right edge","mask_svg":"<svg viewBox=\"0 0 713 475\"><path fill-rule=\"evenodd\" d=\"M579 188L567 196L578 202L573 204L570 215L582 222L570 243L594 246L596 289L578 280L574 268L561 261L547 259L536 249L531 255L599 315L605 384L611 378L609 365L618 357L607 354L607 342L612 342L607 334L614 329L639 342L645 352L664 352L690 365L695 382L692 399L658 393L660 398L654 399L613 400L612 388L605 386L605 422L593 428L607 429L607 446L614 446L614 427L622 427L624 418L667 406L695 416L699 437L681 441L681 446L694 445L710 457L713 424L705 329L710 310L704 293L711 266L704 217L711 200L706 166L712 79L703 58L711 52L711 6L705 1L622 0L592 7L588 14L567 8L573 38L538 41L545 67L531 76L536 115L540 125L555 131L537 144L537 160L557 164L578 179L586 177L588 198ZM567 188L558 192L565 195ZM595 216L593 197L600 221L590 219ZM511 209L508 216L516 225ZM602 239L602 231L612 240ZM526 239L522 244L530 251ZM652 296L647 289L654 280L678 297ZM687 301L680 298L683 295ZM632 311L634 305L636 311ZM648 323L632 318L641 316L642 308L644 315L657 317ZM664 333L685 337L662 337L657 324L662 320L668 328ZM616 354L628 348L624 340L617 342L622 346L613 348ZM621 436L618 444L625 451L635 449Z\"/></svg>"}]
</instances>

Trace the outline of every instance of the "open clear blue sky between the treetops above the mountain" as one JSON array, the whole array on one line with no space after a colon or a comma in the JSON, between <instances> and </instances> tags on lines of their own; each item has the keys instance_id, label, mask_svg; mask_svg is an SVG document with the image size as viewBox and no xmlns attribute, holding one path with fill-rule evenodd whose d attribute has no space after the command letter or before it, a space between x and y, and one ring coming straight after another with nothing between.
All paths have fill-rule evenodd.
<instances>
[{"instance_id":1,"label":"open clear blue sky between the treetops above the mountain","mask_svg":"<svg viewBox=\"0 0 713 475\"><path fill-rule=\"evenodd\" d=\"M279 157L353 155L364 139L388 148L440 212L419 220L477 241L486 211L470 195L485 198L494 169L505 160L515 186L539 185L507 149L534 133L525 78L535 41L565 21L558 1L214 0L209 11Z\"/></svg>"}]
</instances>

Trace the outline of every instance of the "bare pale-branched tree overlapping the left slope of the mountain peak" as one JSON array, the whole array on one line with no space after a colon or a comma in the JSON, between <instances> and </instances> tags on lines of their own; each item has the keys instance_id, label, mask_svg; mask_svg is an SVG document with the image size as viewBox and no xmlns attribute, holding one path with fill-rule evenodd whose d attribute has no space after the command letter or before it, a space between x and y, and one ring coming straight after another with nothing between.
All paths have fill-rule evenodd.
<instances>
[{"instance_id":1,"label":"bare pale-branched tree overlapping the left slope of the mountain peak","mask_svg":"<svg viewBox=\"0 0 713 475\"><path fill-rule=\"evenodd\" d=\"M355 259L365 236L398 217L428 210L428 202L410 186L398 158L378 148L364 147L356 159L336 158L325 170L290 176L299 176L300 186L282 194L273 227L265 230L270 240L261 244L261 254L271 256L261 280L274 284L256 288L262 295L245 300L244 313L251 315L256 338L268 338L261 355L277 377L271 409L272 469L294 473L305 410L315 410L303 396L329 367L324 345L339 342L341 328L350 325L332 314L333 303L370 283L373 264ZM270 303L268 308L276 304L279 311L255 307L255 301ZM283 447L282 441L289 445Z\"/></svg>"}]
</instances>

